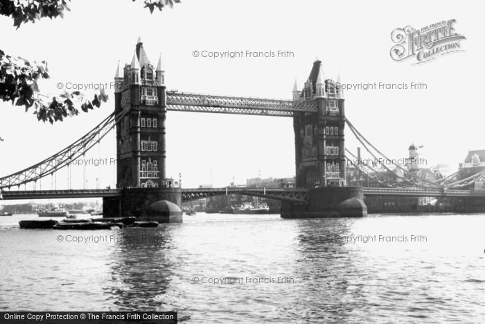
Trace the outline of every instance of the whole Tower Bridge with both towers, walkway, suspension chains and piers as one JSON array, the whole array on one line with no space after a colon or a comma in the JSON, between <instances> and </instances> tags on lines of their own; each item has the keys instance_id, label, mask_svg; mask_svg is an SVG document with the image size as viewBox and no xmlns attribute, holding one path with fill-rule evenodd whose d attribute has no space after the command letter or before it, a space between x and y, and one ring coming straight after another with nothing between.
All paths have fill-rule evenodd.
<instances>
[{"instance_id":1,"label":"whole Tower Bridge with both towers, walkway, suspension chains and piers","mask_svg":"<svg viewBox=\"0 0 485 324\"><path fill-rule=\"evenodd\" d=\"M141 216L159 221L182 221L164 210L170 201L182 201L221 194L261 196L282 201L282 217L365 216L365 196L439 196L482 198L481 192L469 190L470 184L483 181L485 171L460 179L457 173L434 182L416 177L401 166L387 169L387 178L371 166L354 164L356 172L376 178L379 188L346 186L346 166L341 161L358 161L345 148L345 130L359 140L375 158L384 157L345 117L345 101L337 81L325 78L320 60L315 60L310 74L298 89L295 80L292 100L221 96L168 91L165 71L159 58L152 65L143 42L135 46L130 63L116 69L114 112L98 126L67 148L32 167L0 178L3 199L103 197L105 216ZM166 178L166 117L169 111L209 112L290 117L293 119L295 174L297 188L194 188L185 189ZM69 167L78 157L112 129L116 130L116 189L67 189L20 191L21 185L34 184ZM91 182L92 183L92 182ZM398 186L408 186L407 188ZM414 188L409 188L414 187ZM159 207L158 216L150 214ZM160 207L160 206L165 207ZM151 209L150 209L151 208ZM160 209L161 208L161 209Z\"/></svg>"}]
</instances>

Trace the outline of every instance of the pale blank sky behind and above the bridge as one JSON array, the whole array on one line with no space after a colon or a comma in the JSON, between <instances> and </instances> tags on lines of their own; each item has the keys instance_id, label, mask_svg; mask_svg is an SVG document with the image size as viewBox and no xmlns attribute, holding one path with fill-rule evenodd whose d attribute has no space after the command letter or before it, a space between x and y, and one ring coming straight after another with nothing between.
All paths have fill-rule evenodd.
<instances>
[{"instance_id":1,"label":"pale blank sky behind and above the bridge","mask_svg":"<svg viewBox=\"0 0 485 324\"><path fill-rule=\"evenodd\" d=\"M59 94L57 83L109 83L118 60L130 62L141 36L154 65L161 52L168 89L291 99L319 56L326 78L342 83L423 82L421 90L347 90L346 117L389 157L407 155L409 144L428 165L457 169L468 150L485 148L481 96L485 45L479 1L200 1L183 0L154 12L142 1L73 0L64 19L22 25L0 17L1 47L29 60L46 60L51 80L46 94ZM391 31L421 28L456 19L466 37L459 53L423 65L395 62L389 56ZM294 52L293 58L195 58L193 51ZM93 91L85 91L91 96ZM84 135L114 109L102 108L63 123L38 122L23 108L0 103L0 176L39 162ZM213 182L227 185L247 178L294 176L292 119L243 115L168 112L167 175L184 187ZM346 147L355 151L346 129ZM115 156L114 135L88 157ZM212 168L212 178L210 170ZM114 167L88 169L89 187L113 185ZM82 188L82 168L73 169L73 187ZM42 182L51 188L51 179ZM66 187L64 173L58 187Z\"/></svg>"}]
</instances>

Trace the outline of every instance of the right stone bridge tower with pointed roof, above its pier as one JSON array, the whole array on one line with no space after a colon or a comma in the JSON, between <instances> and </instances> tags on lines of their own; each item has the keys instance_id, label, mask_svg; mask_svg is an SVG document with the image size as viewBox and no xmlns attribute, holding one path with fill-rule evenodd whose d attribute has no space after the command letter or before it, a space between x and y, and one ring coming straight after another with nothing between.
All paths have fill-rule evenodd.
<instances>
[{"instance_id":1,"label":"right stone bridge tower with pointed roof, above its pier","mask_svg":"<svg viewBox=\"0 0 485 324\"><path fill-rule=\"evenodd\" d=\"M294 101L315 101L318 107L316 113L298 112L293 117L297 187L344 185L345 110L338 85L324 77L318 58L301 92L294 85Z\"/></svg>"}]
</instances>

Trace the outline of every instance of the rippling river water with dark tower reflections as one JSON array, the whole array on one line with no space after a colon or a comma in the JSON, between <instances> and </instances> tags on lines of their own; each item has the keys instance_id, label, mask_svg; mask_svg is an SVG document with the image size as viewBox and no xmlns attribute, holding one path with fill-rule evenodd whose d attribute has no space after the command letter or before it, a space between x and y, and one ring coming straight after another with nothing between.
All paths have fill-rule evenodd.
<instances>
[{"instance_id":1,"label":"rippling river water with dark tower reflections","mask_svg":"<svg viewBox=\"0 0 485 324\"><path fill-rule=\"evenodd\" d=\"M0 310L180 323L485 323L485 215L197 214L116 230L0 217Z\"/></svg>"}]
</instances>

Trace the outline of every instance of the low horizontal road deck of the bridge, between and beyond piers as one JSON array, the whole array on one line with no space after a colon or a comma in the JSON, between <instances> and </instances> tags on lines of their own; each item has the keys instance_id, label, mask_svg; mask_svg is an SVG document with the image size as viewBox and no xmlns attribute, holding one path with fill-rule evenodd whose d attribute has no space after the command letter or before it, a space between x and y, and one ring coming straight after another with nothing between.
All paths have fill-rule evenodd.
<instances>
[{"instance_id":1,"label":"low horizontal road deck of the bridge, between and beyond piers","mask_svg":"<svg viewBox=\"0 0 485 324\"><path fill-rule=\"evenodd\" d=\"M3 191L4 200L19 199L58 199L58 198L105 198L121 196L122 189L64 189L64 190L27 190ZM182 201L193 201L211 196L239 194L306 203L310 189L303 188L182 188ZM443 190L443 189L414 189L414 188L364 188L364 196L405 196L405 197L483 197L485 191L473 190Z\"/></svg>"}]
</instances>

